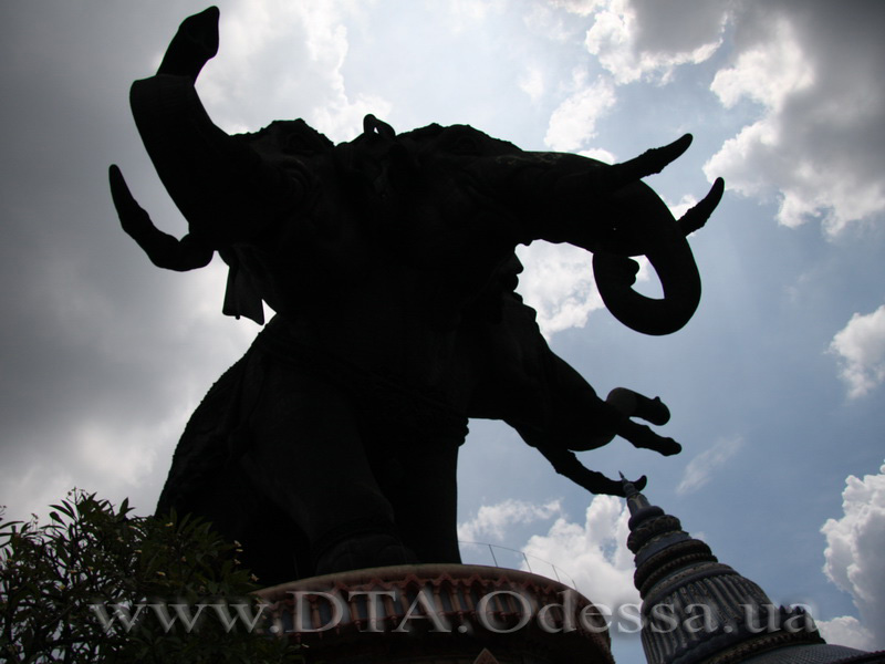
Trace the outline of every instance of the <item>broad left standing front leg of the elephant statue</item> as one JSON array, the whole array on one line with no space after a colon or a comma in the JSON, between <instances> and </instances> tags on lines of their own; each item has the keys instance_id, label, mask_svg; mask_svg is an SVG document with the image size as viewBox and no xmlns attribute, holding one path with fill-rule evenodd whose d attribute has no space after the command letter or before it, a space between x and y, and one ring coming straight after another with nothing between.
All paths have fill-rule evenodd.
<instances>
[{"instance_id":1,"label":"broad left standing front leg of the elephant statue","mask_svg":"<svg viewBox=\"0 0 885 664\"><path fill-rule=\"evenodd\" d=\"M250 416L253 480L306 536L316 574L414 560L366 457L348 397L270 366Z\"/></svg>"}]
</instances>

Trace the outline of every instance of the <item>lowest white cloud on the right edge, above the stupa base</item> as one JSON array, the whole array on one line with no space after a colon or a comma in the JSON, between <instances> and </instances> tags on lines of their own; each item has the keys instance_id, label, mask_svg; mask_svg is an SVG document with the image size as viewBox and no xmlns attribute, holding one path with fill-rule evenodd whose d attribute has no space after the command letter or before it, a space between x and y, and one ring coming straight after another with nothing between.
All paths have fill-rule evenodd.
<instances>
[{"instance_id":1,"label":"lowest white cloud on the right edge, above the stupa base","mask_svg":"<svg viewBox=\"0 0 885 664\"><path fill-rule=\"evenodd\" d=\"M885 465L878 475L850 475L842 492L840 519L827 519L826 577L851 593L861 620L836 618L824 623L835 643L885 649Z\"/></svg>"}]
</instances>

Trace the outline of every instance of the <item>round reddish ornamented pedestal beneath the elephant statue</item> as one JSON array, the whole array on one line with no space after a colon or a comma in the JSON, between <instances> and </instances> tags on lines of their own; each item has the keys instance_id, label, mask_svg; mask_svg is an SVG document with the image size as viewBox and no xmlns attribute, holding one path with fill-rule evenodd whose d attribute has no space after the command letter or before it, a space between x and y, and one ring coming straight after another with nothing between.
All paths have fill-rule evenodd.
<instances>
[{"instance_id":1,"label":"round reddish ornamented pedestal beneath the elephant statue","mask_svg":"<svg viewBox=\"0 0 885 664\"><path fill-rule=\"evenodd\" d=\"M605 620L586 598L517 570L398 566L257 594L271 630L311 664L614 663Z\"/></svg>"}]
</instances>

